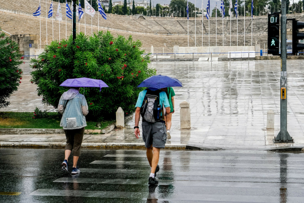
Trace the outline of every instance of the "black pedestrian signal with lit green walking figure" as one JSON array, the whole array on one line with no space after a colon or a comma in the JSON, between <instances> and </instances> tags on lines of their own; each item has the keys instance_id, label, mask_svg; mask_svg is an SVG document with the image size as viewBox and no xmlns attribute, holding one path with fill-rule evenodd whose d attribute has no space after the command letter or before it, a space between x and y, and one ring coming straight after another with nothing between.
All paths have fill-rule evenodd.
<instances>
[{"instance_id":1,"label":"black pedestrian signal with lit green walking figure","mask_svg":"<svg viewBox=\"0 0 304 203\"><path fill-rule=\"evenodd\" d=\"M280 55L280 14L268 14L268 53Z\"/></svg>"}]
</instances>

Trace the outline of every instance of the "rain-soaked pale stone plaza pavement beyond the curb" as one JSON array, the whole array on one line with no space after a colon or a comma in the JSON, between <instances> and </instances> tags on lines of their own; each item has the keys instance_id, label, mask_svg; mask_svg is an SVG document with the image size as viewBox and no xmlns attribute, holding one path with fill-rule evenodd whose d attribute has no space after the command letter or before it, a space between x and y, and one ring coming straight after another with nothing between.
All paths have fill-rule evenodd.
<instances>
[{"instance_id":1,"label":"rain-soaked pale stone plaza pavement beyond the curb","mask_svg":"<svg viewBox=\"0 0 304 203\"><path fill-rule=\"evenodd\" d=\"M294 146L304 144L302 63L287 61L287 123ZM176 112L172 139L167 143L247 149L286 146L273 145L280 130L280 60L151 62L149 66L183 83L183 87L174 87ZM53 109L41 105L29 80L30 76L24 75L19 90L11 96L11 106L0 111L31 112L35 106ZM179 104L184 100L191 107L191 130L180 130ZM265 130L269 110L275 112L272 131ZM128 124L129 128L117 130L107 142L142 142L134 138L134 120Z\"/></svg>"}]
</instances>

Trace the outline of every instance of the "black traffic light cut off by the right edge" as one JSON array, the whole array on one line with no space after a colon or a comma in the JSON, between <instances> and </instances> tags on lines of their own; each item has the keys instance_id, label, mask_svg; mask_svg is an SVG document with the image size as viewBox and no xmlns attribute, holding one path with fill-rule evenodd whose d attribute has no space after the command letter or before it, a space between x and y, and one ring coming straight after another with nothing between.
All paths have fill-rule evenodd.
<instances>
[{"instance_id":1,"label":"black traffic light cut off by the right edge","mask_svg":"<svg viewBox=\"0 0 304 203\"><path fill-rule=\"evenodd\" d=\"M298 29L303 27L304 22L292 19L292 55L295 55L299 50L304 49L304 43L298 43L298 40L304 39L304 33L298 32Z\"/></svg>"}]
</instances>

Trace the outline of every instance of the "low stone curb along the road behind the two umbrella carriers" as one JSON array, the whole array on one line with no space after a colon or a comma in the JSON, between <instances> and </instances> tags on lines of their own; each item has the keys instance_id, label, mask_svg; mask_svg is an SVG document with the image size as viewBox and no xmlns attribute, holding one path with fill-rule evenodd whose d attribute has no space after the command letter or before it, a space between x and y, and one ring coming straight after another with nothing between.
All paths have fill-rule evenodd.
<instances>
[{"instance_id":1,"label":"low stone curb along the road behind the two umbrella carriers","mask_svg":"<svg viewBox=\"0 0 304 203\"><path fill-rule=\"evenodd\" d=\"M2 142L0 147L24 147L24 148L64 148L65 142ZM145 149L144 143L82 143L82 148L129 148L129 149ZM185 150L184 144L166 144L165 149Z\"/></svg>"}]
</instances>

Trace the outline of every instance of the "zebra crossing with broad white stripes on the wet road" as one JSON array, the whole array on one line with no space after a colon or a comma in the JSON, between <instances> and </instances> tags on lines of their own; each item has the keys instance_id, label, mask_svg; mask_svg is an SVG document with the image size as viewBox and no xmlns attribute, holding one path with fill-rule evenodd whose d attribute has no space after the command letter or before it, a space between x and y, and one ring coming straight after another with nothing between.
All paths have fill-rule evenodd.
<instances>
[{"instance_id":1,"label":"zebra crossing with broad white stripes on the wet road","mask_svg":"<svg viewBox=\"0 0 304 203\"><path fill-rule=\"evenodd\" d=\"M304 154L244 152L163 151L159 185L151 189L144 151L108 151L101 160L81 168L79 178L62 177L53 182L77 184L77 188L41 188L31 195L119 198L118 202L303 202ZM108 190L98 190L97 186L107 185L111 186ZM89 186L96 188L83 189ZM288 201L282 201L286 198Z\"/></svg>"}]
</instances>

